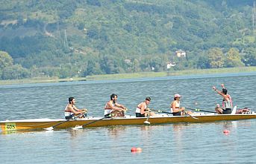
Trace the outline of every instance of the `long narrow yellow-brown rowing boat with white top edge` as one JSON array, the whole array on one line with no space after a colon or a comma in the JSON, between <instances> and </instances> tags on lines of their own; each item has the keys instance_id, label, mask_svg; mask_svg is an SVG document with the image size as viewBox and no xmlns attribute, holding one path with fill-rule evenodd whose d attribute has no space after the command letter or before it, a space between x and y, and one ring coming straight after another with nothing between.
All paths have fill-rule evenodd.
<instances>
[{"instance_id":1,"label":"long narrow yellow-brown rowing boat with white top edge","mask_svg":"<svg viewBox=\"0 0 256 164\"><path fill-rule=\"evenodd\" d=\"M100 117L87 117L84 119L70 119L68 121L66 121L66 119L19 119L1 121L0 131L43 130L52 126L57 129L63 129L73 128L78 125L87 125L84 128L102 127L109 125L143 125L145 124L146 119L151 123L151 125L178 122L216 122L224 120L256 119L256 113L252 112L251 114L206 114L196 112L192 116L172 116L170 114L157 114L156 116L149 118L139 118L134 116L106 119L102 119Z\"/></svg>"}]
</instances>

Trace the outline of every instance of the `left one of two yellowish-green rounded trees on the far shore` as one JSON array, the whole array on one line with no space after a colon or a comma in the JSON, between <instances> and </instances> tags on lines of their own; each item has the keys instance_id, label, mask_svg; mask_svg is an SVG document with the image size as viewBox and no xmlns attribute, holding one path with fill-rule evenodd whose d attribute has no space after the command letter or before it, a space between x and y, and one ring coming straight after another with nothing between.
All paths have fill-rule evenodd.
<instances>
[{"instance_id":1,"label":"left one of two yellowish-green rounded trees on the far shore","mask_svg":"<svg viewBox=\"0 0 256 164\"><path fill-rule=\"evenodd\" d=\"M210 68L223 68L225 56L219 47L213 47L208 50L208 59Z\"/></svg>"}]
</instances>

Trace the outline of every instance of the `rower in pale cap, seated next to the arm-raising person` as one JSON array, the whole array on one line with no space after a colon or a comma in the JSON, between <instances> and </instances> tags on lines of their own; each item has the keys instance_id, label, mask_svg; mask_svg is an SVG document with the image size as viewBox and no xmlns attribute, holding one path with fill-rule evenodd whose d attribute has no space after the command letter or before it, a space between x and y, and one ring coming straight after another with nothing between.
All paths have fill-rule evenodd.
<instances>
[{"instance_id":1,"label":"rower in pale cap, seated next to the arm-raising person","mask_svg":"<svg viewBox=\"0 0 256 164\"><path fill-rule=\"evenodd\" d=\"M180 107L181 95L175 94L170 108L173 116L184 116L185 114L193 114L191 111L185 111L184 107Z\"/></svg>"}]
</instances>

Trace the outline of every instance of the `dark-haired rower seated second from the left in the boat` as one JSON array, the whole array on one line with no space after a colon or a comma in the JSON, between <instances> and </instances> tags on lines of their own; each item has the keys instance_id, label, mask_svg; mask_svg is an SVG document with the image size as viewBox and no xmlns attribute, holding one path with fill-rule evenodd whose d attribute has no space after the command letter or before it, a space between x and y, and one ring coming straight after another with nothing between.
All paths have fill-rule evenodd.
<instances>
[{"instance_id":1,"label":"dark-haired rower seated second from the left in the boat","mask_svg":"<svg viewBox=\"0 0 256 164\"><path fill-rule=\"evenodd\" d=\"M116 101L117 95L111 94L110 100L104 107L104 117L108 117L109 115L111 115L111 117L125 117L125 111L127 111L127 108Z\"/></svg>"}]
</instances>

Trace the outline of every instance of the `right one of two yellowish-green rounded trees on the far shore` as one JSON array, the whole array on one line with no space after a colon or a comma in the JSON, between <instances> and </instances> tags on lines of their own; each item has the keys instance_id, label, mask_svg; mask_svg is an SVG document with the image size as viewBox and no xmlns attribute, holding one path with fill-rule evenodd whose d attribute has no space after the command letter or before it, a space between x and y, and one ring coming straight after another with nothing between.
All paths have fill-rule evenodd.
<instances>
[{"instance_id":1,"label":"right one of two yellowish-green rounded trees on the far shore","mask_svg":"<svg viewBox=\"0 0 256 164\"><path fill-rule=\"evenodd\" d=\"M241 61L240 53L236 48L231 47L231 49L228 50L225 65L228 68L244 66Z\"/></svg>"}]
</instances>

